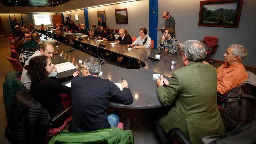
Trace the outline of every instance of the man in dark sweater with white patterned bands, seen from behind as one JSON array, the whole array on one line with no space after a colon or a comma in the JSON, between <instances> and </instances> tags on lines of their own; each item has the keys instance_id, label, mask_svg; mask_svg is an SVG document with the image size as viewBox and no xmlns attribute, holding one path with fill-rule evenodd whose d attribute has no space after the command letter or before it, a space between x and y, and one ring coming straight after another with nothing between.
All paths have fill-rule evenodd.
<instances>
[{"instance_id":1,"label":"man in dark sweater with white patterned bands, seen from behind","mask_svg":"<svg viewBox=\"0 0 256 144\"><path fill-rule=\"evenodd\" d=\"M22 66L25 65L26 61L35 53L35 51L39 51L41 49L41 46L38 44L39 41L39 34L37 32L33 32L31 40L23 45L19 55L19 62Z\"/></svg>"}]
</instances>

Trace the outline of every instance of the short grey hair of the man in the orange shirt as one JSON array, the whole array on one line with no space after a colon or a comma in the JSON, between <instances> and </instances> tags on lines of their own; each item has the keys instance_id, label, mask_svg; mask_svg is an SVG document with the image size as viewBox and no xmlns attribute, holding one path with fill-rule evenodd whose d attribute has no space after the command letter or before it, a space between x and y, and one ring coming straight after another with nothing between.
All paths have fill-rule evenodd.
<instances>
[{"instance_id":1,"label":"short grey hair of the man in the orange shirt","mask_svg":"<svg viewBox=\"0 0 256 144\"><path fill-rule=\"evenodd\" d=\"M234 48L232 51L232 55L239 56L240 61L243 61L243 59L248 55L248 51L243 45L230 44L230 47Z\"/></svg>"}]
</instances>

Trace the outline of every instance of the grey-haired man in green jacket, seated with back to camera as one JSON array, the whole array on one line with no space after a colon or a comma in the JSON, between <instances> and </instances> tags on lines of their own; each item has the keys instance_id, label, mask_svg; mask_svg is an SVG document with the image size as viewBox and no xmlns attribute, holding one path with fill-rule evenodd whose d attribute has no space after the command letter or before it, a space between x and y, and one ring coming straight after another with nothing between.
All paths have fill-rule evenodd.
<instances>
[{"instance_id":1,"label":"grey-haired man in green jacket, seated with back to camera","mask_svg":"<svg viewBox=\"0 0 256 144\"><path fill-rule=\"evenodd\" d=\"M170 110L156 121L162 143L164 135L177 127L192 143L203 143L205 136L224 134L225 129L217 109L217 73L214 67L204 65L206 49L197 40L187 40L182 49L182 67L172 73L170 81L157 80L160 102ZM164 87L163 85L166 85ZM176 141L177 136L172 136Z\"/></svg>"}]
</instances>

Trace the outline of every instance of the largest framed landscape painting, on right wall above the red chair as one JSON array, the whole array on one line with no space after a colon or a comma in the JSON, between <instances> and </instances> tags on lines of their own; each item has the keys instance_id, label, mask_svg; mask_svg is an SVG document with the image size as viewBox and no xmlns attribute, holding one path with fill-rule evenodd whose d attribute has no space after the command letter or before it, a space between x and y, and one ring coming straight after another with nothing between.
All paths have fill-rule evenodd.
<instances>
[{"instance_id":1,"label":"largest framed landscape painting, on right wall above the red chair","mask_svg":"<svg viewBox=\"0 0 256 144\"><path fill-rule=\"evenodd\" d=\"M243 0L200 2L198 26L238 28Z\"/></svg>"}]
</instances>

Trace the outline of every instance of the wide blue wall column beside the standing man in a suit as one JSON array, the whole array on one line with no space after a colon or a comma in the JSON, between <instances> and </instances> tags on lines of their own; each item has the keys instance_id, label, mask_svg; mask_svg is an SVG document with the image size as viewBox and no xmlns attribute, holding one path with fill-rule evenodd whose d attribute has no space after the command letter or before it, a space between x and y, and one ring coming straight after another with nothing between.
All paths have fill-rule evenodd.
<instances>
[{"instance_id":1,"label":"wide blue wall column beside the standing man in a suit","mask_svg":"<svg viewBox=\"0 0 256 144\"><path fill-rule=\"evenodd\" d=\"M152 13L154 12L154 13ZM157 48L158 0L149 0L149 36Z\"/></svg>"}]
</instances>

